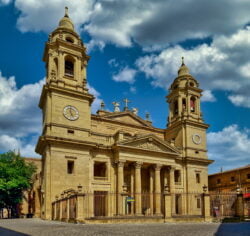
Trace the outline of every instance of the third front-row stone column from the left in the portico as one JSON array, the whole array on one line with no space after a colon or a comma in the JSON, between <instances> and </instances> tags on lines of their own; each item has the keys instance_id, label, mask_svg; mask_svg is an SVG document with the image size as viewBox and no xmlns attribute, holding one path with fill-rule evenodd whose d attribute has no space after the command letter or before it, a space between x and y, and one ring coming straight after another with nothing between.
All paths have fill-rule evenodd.
<instances>
[{"instance_id":1,"label":"third front-row stone column from the left in the portico","mask_svg":"<svg viewBox=\"0 0 250 236\"><path fill-rule=\"evenodd\" d=\"M155 165L155 214L161 215L161 171L162 165Z\"/></svg>"}]
</instances>

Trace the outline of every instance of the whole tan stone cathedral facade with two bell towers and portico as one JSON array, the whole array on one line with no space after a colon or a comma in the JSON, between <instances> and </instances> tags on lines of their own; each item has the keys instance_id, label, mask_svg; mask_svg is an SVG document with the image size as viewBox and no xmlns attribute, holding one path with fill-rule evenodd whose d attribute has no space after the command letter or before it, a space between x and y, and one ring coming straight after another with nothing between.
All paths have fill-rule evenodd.
<instances>
[{"instance_id":1,"label":"whole tan stone cathedral facade with two bell towers and portico","mask_svg":"<svg viewBox=\"0 0 250 236\"><path fill-rule=\"evenodd\" d=\"M166 129L127 106L120 111L118 104L114 112L102 104L91 114L89 56L67 11L49 35L43 61L43 130L36 146L42 156L41 218L61 219L65 204L65 214L71 214L70 204L79 208L65 200L68 193L81 193L77 214L83 220L202 214L212 162L206 148L208 125L200 109L202 90L184 61L166 97ZM61 204L57 217L56 202Z\"/></svg>"}]
</instances>

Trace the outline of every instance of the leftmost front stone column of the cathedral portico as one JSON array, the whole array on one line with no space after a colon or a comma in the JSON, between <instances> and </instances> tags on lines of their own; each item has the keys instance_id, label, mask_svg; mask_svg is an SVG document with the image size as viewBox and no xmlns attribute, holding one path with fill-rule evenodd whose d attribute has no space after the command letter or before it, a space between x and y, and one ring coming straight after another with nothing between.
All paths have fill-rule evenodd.
<instances>
[{"instance_id":1,"label":"leftmost front stone column of the cathedral portico","mask_svg":"<svg viewBox=\"0 0 250 236\"><path fill-rule=\"evenodd\" d=\"M121 195L123 192L122 186L124 182L124 164L125 161L117 162L117 206L118 206L118 215L122 215L123 213L123 196Z\"/></svg>"}]
</instances>

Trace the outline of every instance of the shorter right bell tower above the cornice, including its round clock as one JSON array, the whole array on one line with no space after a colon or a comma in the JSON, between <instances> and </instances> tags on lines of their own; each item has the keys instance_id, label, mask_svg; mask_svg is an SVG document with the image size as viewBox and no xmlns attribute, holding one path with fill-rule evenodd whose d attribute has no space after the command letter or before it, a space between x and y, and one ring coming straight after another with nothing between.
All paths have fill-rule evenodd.
<instances>
[{"instance_id":1,"label":"shorter right bell tower above the cornice, including its round clock","mask_svg":"<svg viewBox=\"0 0 250 236\"><path fill-rule=\"evenodd\" d=\"M165 138L181 148L184 157L207 158L206 129L209 126L202 119L202 91L182 58L178 76L167 96L169 116Z\"/></svg>"}]
</instances>

